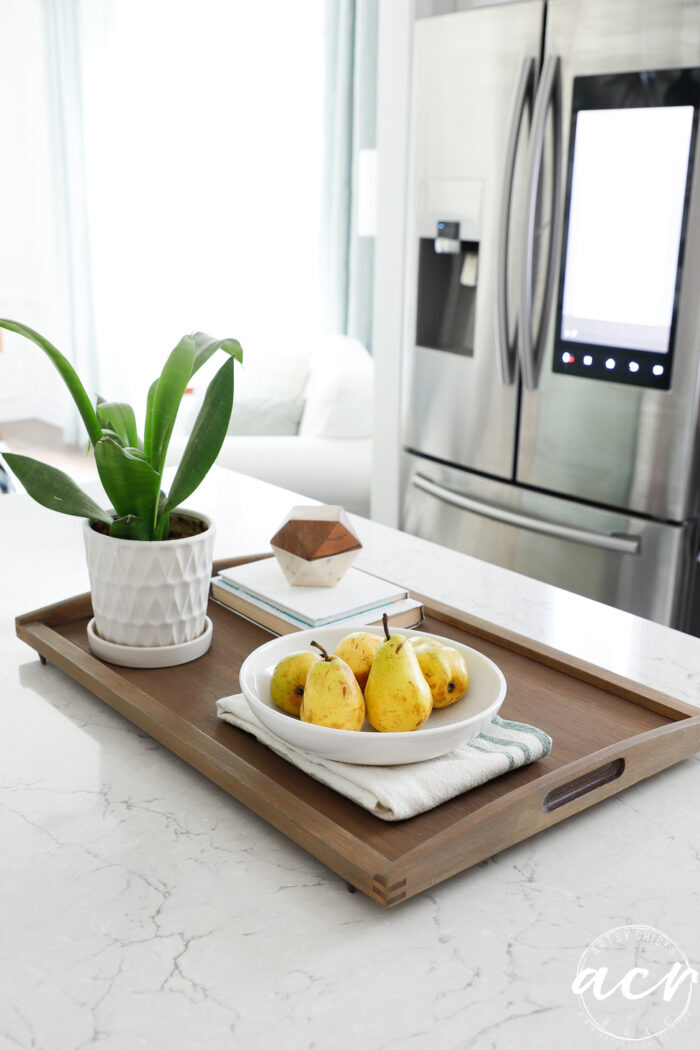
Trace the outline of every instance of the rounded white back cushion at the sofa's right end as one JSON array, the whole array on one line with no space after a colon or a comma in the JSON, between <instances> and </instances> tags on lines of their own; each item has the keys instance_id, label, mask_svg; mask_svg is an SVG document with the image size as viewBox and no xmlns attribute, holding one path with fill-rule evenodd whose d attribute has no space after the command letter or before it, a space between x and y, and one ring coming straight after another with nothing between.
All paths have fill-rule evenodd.
<instances>
[{"instance_id":1,"label":"rounded white back cushion at the sofa's right end","mask_svg":"<svg viewBox=\"0 0 700 1050\"><path fill-rule=\"evenodd\" d=\"M299 436L372 437L374 361L361 342L328 336L311 360Z\"/></svg>"}]
</instances>

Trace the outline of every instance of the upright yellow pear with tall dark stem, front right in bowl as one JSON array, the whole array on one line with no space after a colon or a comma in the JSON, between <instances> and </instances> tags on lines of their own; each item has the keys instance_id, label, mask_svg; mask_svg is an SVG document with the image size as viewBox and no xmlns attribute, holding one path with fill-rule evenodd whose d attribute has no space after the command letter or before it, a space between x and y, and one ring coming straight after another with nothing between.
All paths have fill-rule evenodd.
<instances>
[{"instance_id":1,"label":"upright yellow pear with tall dark stem, front right in bowl","mask_svg":"<svg viewBox=\"0 0 700 1050\"><path fill-rule=\"evenodd\" d=\"M382 620L386 640L377 650L364 690L367 718L380 733L405 733L427 720L432 696L413 647L403 635L389 634L386 613Z\"/></svg>"}]
</instances>

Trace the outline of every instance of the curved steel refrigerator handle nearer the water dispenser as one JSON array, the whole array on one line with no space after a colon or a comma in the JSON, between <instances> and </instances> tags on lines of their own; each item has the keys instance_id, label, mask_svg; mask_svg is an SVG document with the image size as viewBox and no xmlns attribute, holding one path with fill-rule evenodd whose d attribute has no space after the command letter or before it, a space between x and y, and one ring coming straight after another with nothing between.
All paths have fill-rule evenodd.
<instances>
[{"instance_id":1,"label":"curved steel refrigerator handle nearer the water dispenser","mask_svg":"<svg viewBox=\"0 0 700 1050\"><path fill-rule=\"evenodd\" d=\"M506 145L506 171L501 191L501 229L499 230L495 264L495 332L501 358L501 378L504 386L510 386L515 378L515 341L517 339L517 331L512 342L508 338L508 233L510 231L513 178L515 176L515 154L526 107L529 119L532 119L535 68L534 58L527 56L523 59L515 87L513 114Z\"/></svg>"}]
</instances>

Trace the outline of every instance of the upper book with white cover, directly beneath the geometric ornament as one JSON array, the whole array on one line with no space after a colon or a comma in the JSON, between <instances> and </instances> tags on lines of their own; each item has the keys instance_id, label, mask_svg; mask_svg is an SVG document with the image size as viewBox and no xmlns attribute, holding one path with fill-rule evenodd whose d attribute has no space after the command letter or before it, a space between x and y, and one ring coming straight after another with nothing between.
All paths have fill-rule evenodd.
<instances>
[{"instance_id":1,"label":"upper book with white cover, directly beneath the geometric ornament","mask_svg":"<svg viewBox=\"0 0 700 1050\"><path fill-rule=\"evenodd\" d=\"M335 587L294 587L276 558L222 569L219 581L307 627L322 627L346 616L361 615L408 596L405 588L356 568L348 569Z\"/></svg>"}]
</instances>

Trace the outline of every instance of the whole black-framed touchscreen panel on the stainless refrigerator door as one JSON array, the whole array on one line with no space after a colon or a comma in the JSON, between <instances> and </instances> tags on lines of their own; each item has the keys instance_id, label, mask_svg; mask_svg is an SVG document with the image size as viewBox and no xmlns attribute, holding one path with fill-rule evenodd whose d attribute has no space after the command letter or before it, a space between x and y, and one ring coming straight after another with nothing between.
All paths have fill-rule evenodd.
<instances>
[{"instance_id":1,"label":"whole black-framed touchscreen panel on the stainless refrigerator door","mask_svg":"<svg viewBox=\"0 0 700 1050\"><path fill-rule=\"evenodd\" d=\"M574 82L555 371L670 385L697 123L688 72Z\"/></svg>"}]
</instances>

